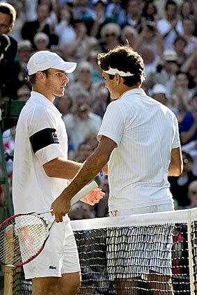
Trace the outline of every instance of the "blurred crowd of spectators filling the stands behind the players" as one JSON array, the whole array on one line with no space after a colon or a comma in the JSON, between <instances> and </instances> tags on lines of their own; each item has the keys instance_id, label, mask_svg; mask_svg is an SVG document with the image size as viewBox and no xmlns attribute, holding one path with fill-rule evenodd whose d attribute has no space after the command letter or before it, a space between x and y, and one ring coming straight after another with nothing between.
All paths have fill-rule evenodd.
<instances>
[{"instance_id":1,"label":"blurred crowd of spectators filling the stands behind the players","mask_svg":"<svg viewBox=\"0 0 197 295\"><path fill-rule=\"evenodd\" d=\"M171 177L169 182L175 208L194 208L197 0L0 1L0 104L9 99L29 99L26 65L36 51L54 51L65 60L77 62L77 70L68 74L65 96L57 97L54 103L67 128L69 159L84 162L97 146L97 131L111 101L97 66L97 53L127 42L143 57L145 92L171 108L178 118L184 169L181 176ZM3 144L10 155L7 170L11 187L15 127L3 133ZM71 219L108 216L108 180L105 176L96 180L106 193L104 199L95 207L75 204ZM3 206L1 187L0 196Z\"/></svg>"}]
</instances>

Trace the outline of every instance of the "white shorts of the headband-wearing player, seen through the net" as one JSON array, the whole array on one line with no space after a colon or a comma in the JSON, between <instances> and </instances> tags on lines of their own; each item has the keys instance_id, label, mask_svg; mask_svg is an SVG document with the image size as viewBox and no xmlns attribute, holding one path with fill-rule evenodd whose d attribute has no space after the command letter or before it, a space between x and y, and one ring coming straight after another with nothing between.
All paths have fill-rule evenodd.
<instances>
[{"instance_id":1,"label":"white shorts of the headband-wearing player, seen through the net","mask_svg":"<svg viewBox=\"0 0 197 295\"><path fill-rule=\"evenodd\" d=\"M144 214L173 210L173 205L155 205L134 210L110 212L110 216ZM108 271L111 279L134 278L148 273L171 276L171 247L174 225L127 226L109 229Z\"/></svg>"}]
</instances>

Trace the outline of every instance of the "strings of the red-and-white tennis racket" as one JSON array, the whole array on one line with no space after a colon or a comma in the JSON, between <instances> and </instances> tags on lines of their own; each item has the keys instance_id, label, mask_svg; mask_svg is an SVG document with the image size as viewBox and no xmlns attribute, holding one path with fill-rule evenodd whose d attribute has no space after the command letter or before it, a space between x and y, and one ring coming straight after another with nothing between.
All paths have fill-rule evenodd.
<instances>
[{"instance_id":1,"label":"strings of the red-and-white tennis racket","mask_svg":"<svg viewBox=\"0 0 197 295\"><path fill-rule=\"evenodd\" d=\"M47 223L40 216L22 215L0 228L0 261L23 264L42 248L47 237Z\"/></svg>"}]
</instances>

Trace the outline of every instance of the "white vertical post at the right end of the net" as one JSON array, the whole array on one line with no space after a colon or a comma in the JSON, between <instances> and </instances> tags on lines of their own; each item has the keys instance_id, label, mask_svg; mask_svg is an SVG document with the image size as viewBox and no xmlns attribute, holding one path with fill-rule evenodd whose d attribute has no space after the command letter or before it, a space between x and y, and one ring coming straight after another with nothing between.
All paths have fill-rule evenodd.
<instances>
[{"instance_id":1,"label":"white vertical post at the right end of the net","mask_svg":"<svg viewBox=\"0 0 197 295\"><path fill-rule=\"evenodd\" d=\"M192 242L191 242L191 232L193 231L191 223L191 210L187 212L187 240L188 240L188 253L189 253L189 282L190 282L190 294L194 295L194 261L192 254Z\"/></svg>"}]
</instances>

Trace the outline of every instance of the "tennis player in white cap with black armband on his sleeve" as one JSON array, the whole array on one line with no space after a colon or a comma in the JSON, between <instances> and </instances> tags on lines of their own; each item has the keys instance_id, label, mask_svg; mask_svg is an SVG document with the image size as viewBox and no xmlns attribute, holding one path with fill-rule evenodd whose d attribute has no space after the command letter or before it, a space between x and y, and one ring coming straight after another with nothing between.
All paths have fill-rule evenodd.
<instances>
[{"instance_id":1,"label":"tennis player in white cap with black armband on his sleeve","mask_svg":"<svg viewBox=\"0 0 197 295\"><path fill-rule=\"evenodd\" d=\"M76 62L65 62L56 53L38 51L29 59L30 99L17 122L13 169L13 205L15 214L49 210L52 201L68 185L82 166L68 160L65 124L53 102L63 96L69 79L66 73ZM94 189L83 201L94 205L104 193ZM54 217L49 214L47 221ZM70 219L55 224L45 248L24 265L26 278L32 279L33 295L74 295L80 285L77 245Z\"/></svg>"}]
</instances>

